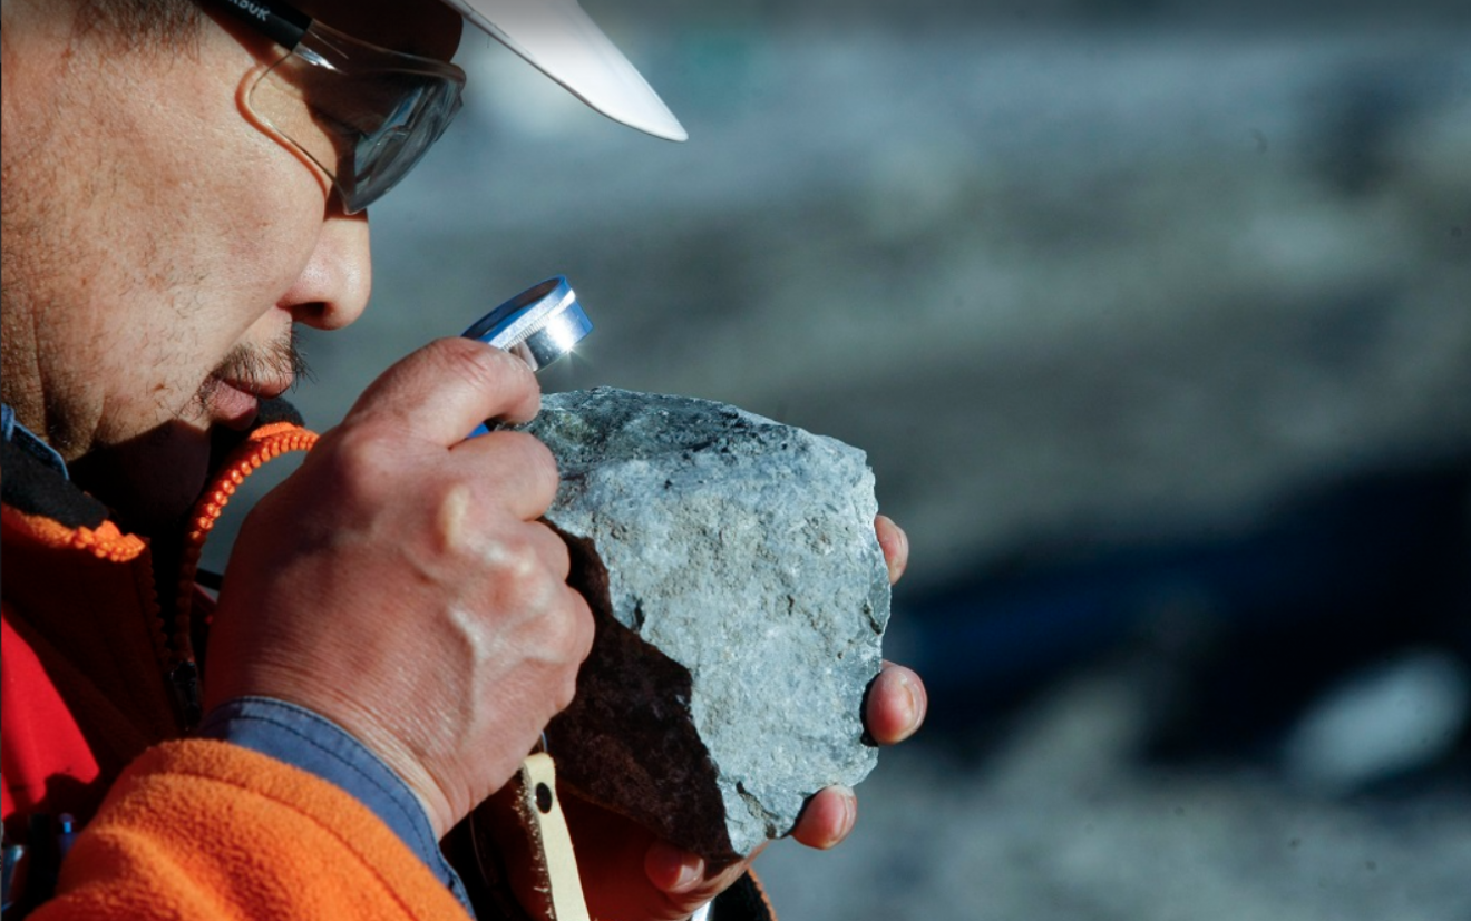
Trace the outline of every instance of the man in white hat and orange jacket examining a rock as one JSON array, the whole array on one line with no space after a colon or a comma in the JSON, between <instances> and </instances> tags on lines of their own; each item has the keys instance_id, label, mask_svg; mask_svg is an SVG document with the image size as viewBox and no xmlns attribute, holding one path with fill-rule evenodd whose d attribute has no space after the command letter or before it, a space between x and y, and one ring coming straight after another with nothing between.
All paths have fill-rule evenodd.
<instances>
[{"instance_id":1,"label":"man in white hat and orange jacket examining a rock","mask_svg":"<svg viewBox=\"0 0 1471 921\"><path fill-rule=\"evenodd\" d=\"M299 372L291 331L365 308L363 209L453 116L462 12L612 118L683 129L571 0L0 9L0 779L21 908L463 917L437 842L568 704L593 633L537 521L550 454L463 441L534 416L535 379L465 339L387 370L253 511L212 615L190 510L232 489L229 470L206 489L229 451L249 469L313 441L274 400ZM897 577L903 533L878 533ZM922 714L912 673L875 679L875 739ZM855 809L824 790L794 837L831 846ZM596 917L684 918L721 893L715 917L761 915L744 864L569 812Z\"/></svg>"}]
</instances>

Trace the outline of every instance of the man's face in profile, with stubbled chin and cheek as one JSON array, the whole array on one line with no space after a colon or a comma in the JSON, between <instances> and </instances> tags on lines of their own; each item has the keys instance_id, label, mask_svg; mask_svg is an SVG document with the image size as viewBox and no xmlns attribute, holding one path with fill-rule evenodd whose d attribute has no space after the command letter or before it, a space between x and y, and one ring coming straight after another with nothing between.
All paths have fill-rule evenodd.
<instances>
[{"instance_id":1,"label":"man's face in profile, with stubbled chin and cheek","mask_svg":"<svg viewBox=\"0 0 1471 921\"><path fill-rule=\"evenodd\" d=\"M300 6L397 50L459 41L438 0ZM366 306L366 216L246 109L281 50L228 16L143 50L71 3L4 16L4 398L131 526L165 527L210 430L290 386L293 326Z\"/></svg>"}]
</instances>

